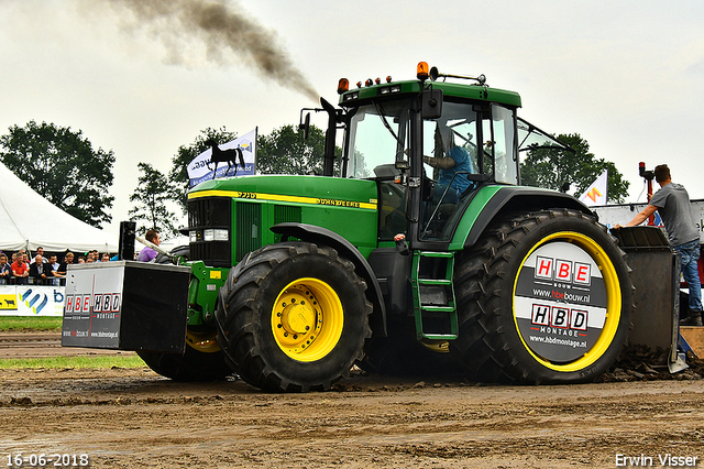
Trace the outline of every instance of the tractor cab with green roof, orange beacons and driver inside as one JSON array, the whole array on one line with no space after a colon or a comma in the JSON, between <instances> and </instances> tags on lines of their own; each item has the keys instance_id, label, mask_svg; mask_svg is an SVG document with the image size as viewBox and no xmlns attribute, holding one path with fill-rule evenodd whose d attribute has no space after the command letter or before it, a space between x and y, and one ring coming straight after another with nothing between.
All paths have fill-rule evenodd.
<instances>
[{"instance_id":1,"label":"tractor cab with green roof, orange beacons and driver inside","mask_svg":"<svg viewBox=\"0 0 704 469\"><path fill-rule=\"evenodd\" d=\"M367 80L353 90L341 80L340 176L377 182L380 242L405 234L441 248L483 186L519 183L520 98L488 88L483 76L458 86L424 70L421 63L418 80Z\"/></svg>"}]
</instances>

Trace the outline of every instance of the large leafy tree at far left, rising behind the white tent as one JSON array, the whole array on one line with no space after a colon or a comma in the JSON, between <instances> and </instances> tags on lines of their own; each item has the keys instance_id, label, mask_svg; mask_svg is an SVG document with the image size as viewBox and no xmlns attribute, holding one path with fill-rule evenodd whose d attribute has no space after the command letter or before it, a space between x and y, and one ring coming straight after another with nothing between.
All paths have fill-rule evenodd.
<instances>
[{"instance_id":1,"label":"large leafy tree at far left, rising behind the white tent","mask_svg":"<svg viewBox=\"0 0 704 469\"><path fill-rule=\"evenodd\" d=\"M112 150L94 150L79 130L54 123L9 128L0 137L0 161L36 193L62 210L95 227L110 222L114 197Z\"/></svg>"}]
</instances>

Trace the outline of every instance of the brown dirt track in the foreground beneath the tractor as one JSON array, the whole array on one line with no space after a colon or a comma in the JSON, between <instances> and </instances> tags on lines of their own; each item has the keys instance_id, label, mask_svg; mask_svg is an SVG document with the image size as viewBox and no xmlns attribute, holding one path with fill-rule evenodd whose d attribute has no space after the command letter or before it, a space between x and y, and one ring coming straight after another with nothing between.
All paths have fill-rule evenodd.
<instances>
[{"instance_id":1,"label":"brown dirt track in the foreground beneath the tractor","mask_svg":"<svg viewBox=\"0 0 704 469\"><path fill-rule=\"evenodd\" d=\"M355 374L329 393L282 395L147 369L0 370L0 465L22 451L88 454L96 468L614 468L641 456L662 467L668 454L704 467L702 399L702 380L518 388Z\"/></svg>"}]
</instances>

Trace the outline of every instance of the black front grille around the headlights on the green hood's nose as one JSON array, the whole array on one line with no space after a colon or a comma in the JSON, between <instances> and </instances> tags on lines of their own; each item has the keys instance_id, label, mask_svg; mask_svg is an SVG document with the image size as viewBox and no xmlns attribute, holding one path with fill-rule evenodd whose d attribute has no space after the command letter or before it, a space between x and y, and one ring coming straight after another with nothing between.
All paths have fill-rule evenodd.
<instances>
[{"instance_id":1,"label":"black front grille around the headlights on the green hood's nose","mask_svg":"<svg viewBox=\"0 0 704 469\"><path fill-rule=\"evenodd\" d=\"M213 268L232 266L232 209L231 199L204 197L188 200L188 231L196 232L190 242L190 259L204 261ZM206 241L204 230L228 230L229 241Z\"/></svg>"}]
</instances>

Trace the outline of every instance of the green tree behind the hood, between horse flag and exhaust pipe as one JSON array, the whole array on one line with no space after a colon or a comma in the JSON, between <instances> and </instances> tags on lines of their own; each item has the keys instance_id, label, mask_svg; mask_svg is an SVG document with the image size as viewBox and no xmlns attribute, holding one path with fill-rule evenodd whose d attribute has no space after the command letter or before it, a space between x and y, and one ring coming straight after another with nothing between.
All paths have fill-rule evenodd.
<instances>
[{"instance_id":1,"label":"green tree behind the hood, between horse flag and exhaust pipe","mask_svg":"<svg viewBox=\"0 0 704 469\"><path fill-rule=\"evenodd\" d=\"M310 126L308 140L294 126L274 129L256 140L256 170L263 174L322 174L324 132ZM342 150L336 146L336 156ZM337 163L336 163L337 164Z\"/></svg>"}]
</instances>

